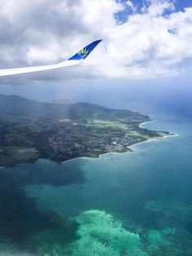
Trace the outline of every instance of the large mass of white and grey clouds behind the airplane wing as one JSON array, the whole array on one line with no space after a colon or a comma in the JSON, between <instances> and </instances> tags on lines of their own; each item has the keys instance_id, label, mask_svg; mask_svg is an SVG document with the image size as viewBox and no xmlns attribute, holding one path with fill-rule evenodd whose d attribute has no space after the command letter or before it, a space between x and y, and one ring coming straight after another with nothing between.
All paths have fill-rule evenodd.
<instances>
[{"instance_id":1,"label":"large mass of white and grey clouds behind the airplane wing","mask_svg":"<svg viewBox=\"0 0 192 256\"><path fill-rule=\"evenodd\" d=\"M54 64L103 38L79 67L24 75L14 82L167 77L185 72L182 64L192 58L192 7L175 11L172 1L147 0L140 9L126 1L133 12L124 23L117 22L116 14L125 5L115 0L0 0L0 4L1 68Z\"/></svg>"}]
</instances>

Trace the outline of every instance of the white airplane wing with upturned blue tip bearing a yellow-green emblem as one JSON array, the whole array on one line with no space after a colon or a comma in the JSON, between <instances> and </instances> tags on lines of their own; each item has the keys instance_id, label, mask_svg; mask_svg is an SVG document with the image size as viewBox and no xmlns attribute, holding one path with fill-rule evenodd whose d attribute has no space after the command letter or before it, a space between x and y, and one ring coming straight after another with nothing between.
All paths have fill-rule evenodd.
<instances>
[{"instance_id":1,"label":"white airplane wing with upturned blue tip bearing a yellow-green emblem","mask_svg":"<svg viewBox=\"0 0 192 256\"><path fill-rule=\"evenodd\" d=\"M73 55L70 59L60 62L59 64L50 64L44 66L34 66L34 67L27 67L27 68L7 68L7 69L0 69L0 77L2 76L11 76L20 73L31 73L37 72L42 70L50 70L55 68L64 68L76 64L80 64L82 60L90 54L91 51L98 45L99 42L102 40L97 40L91 42L88 46L85 46L81 51L78 51L75 55Z\"/></svg>"}]
</instances>

